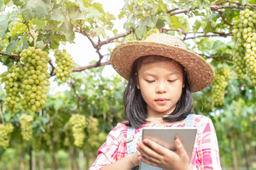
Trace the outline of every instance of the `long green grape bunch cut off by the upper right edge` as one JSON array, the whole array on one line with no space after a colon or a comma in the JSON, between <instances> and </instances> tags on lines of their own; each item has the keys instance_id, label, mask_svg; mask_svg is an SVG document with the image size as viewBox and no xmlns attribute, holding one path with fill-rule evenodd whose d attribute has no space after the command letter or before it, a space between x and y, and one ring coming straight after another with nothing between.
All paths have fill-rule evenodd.
<instances>
[{"instance_id":1,"label":"long green grape bunch cut off by the upper right edge","mask_svg":"<svg viewBox=\"0 0 256 170\"><path fill-rule=\"evenodd\" d=\"M240 11L238 20L233 21L236 42L233 61L238 77L250 78L252 85L256 86L256 12L246 8Z\"/></svg>"}]
</instances>

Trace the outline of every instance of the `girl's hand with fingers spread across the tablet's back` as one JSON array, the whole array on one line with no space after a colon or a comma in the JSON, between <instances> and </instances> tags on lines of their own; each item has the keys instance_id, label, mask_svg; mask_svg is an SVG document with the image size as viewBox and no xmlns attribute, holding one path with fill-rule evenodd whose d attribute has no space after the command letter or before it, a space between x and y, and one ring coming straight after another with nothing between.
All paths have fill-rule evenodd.
<instances>
[{"instance_id":1,"label":"girl's hand with fingers spread across the tablet's back","mask_svg":"<svg viewBox=\"0 0 256 170\"><path fill-rule=\"evenodd\" d=\"M149 139L138 142L137 145L137 150L142 154L139 160L146 164L168 170L190 169L188 154L178 137L175 140L176 152L166 149Z\"/></svg>"}]
</instances>

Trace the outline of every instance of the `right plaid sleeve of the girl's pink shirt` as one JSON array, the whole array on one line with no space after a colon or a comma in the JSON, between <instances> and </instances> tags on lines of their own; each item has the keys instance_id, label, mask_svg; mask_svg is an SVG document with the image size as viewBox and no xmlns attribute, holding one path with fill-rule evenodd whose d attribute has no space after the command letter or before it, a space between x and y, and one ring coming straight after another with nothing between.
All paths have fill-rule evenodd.
<instances>
[{"instance_id":1,"label":"right plaid sleeve of the girl's pink shirt","mask_svg":"<svg viewBox=\"0 0 256 170\"><path fill-rule=\"evenodd\" d=\"M201 125L201 130L198 137L198 149L196 161L196 168L200 170L219 170L220 166L220 153L218 148L218 140L210 118L205 117Z\"/></svg>"}]
</instances>

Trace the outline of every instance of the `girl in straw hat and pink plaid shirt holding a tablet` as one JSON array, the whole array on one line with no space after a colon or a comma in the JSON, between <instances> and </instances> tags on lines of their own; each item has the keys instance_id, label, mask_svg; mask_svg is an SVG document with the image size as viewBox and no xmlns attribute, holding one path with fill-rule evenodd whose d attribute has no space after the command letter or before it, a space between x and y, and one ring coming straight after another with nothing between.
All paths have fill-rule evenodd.
<instances>
[{"instance_id":1,"label":"girl in straw hat and pink plaid shirt holding a tablet","mask_svg":"<svg viewBox=\"0 0 256 170\"><path fill-rule=\"evenodd\" d=\"M129 80L124 92L127 122L118 123L100 147L94 169L138 169L139 161L156 169L221 169L218 141L210 118L191 114L191 92L209 86L214 73L202 57L178 38L152 34L123 42L112 51L112 67ZM142 141L145 127L198 129L191 159L176 137L176 152L153 140Z\"/></svg>"}]
</instances>

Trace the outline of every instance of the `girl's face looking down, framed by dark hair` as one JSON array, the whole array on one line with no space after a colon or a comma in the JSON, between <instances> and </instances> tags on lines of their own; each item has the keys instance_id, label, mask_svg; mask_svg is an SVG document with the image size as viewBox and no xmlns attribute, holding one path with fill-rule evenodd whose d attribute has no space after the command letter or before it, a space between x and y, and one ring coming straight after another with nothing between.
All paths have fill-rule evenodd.
<instances>
[{"instance_id":1,"label":"girl's face looking down, framed by dark hair","mask_svg":"<svg viewBox=\"0 0 256 170\"><path fill-rule=\"evenodd\" d=\"M183 70L173 61L152 62L145 58L137 72L137 88L146 102L147 116L164 117L172 113L183 88Z\"/></svg>"}]
</instances>

